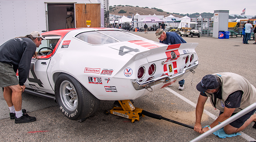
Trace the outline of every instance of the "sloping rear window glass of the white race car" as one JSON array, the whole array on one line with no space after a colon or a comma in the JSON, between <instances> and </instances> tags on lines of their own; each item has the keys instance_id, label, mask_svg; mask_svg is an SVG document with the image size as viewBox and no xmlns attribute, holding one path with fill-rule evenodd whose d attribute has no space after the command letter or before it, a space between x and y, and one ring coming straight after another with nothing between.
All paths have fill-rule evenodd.
<instances>
[{"instance_id":1,"label":"sloping rear window glass of the white race car","mask_svg":"<svg viewBox=\"0 0 256 142\"><path fill-rule=\"evenodd\" d=\"M83 32L76 35L76 38L95 45L124 42L130 40L142 40L129 33L114 30Z\"/></svg>"}]
</instances>

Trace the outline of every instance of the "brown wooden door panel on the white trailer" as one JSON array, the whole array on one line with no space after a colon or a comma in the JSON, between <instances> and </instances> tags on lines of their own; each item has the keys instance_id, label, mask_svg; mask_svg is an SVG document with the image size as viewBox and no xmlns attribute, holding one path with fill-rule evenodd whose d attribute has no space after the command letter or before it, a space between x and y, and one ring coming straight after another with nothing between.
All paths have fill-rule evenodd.
<instances>
[{"instance_id":1,"label":"brown wooden door panel on the white trailer","mask_svg":"<svg viewBox=\"0 0 256 142\"><path fill-rule=\"evenodd\" d=\"M87 20L91 20L90 27L101 27L100 8L100 4L75 4L76 28L87 27Z\"/></svg>"}]
</instances>

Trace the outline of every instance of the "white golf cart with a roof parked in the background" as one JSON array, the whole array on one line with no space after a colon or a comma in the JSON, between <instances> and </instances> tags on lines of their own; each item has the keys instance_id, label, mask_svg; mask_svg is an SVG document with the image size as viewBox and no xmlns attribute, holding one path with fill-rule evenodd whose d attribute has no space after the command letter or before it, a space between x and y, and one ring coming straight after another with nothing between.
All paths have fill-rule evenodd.
<instances>
[{"instance_id":1,"label":"white golf cart with a roof parked in the background","mask_svg":"<svg viewBox=\"0 0 256 142\"><path fill-rule=\"evenodd\" d=\"M181 29L179 29L178 31L176 31L180 36L185 35L186 37L188 37L190 35L190 37L192 38L193 36L198 36L200 37L200 33L198 30L196 29L191 29L191 24L197 24L196 22L184 22L185 24L188 23L188 27L181 27ZM180 24L183 25L183 22L181 22Z\"/></svg>"}]
</instances>

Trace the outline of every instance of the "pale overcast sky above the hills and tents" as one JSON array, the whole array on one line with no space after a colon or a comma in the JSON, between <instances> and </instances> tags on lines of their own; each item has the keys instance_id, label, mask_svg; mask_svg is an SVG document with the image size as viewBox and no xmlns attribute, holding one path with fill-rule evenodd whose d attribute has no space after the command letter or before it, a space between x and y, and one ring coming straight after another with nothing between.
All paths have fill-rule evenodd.
<instances>
[{"instance_id":1,"label":"pale overcast sky above the hills and tents","mask_svg":"<svg viewBox=\"0 0 256 142\"><path fill-rule=\"evenodd\" d=\"M229 10L229 15L240 15L246 8L245 15L256 15L255 0L109 0L109 6L131 5L155 7L170 13L214 13L214 10Z\"/></svg>"}]
</instances>

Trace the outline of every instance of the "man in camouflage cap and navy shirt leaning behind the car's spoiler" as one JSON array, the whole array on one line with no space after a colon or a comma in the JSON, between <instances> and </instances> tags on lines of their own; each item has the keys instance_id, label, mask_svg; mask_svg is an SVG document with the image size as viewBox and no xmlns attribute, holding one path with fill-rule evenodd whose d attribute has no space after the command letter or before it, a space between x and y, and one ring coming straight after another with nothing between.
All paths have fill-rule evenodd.
<instances>
[{"instance_id":1,"label":"man in camouflage cap and navy shirt leaning behind the car's spoiler","mask_svg":"<svg viewBox=\"0 0 256 142\"><path fill-rule=\"evenodd\" d=\"M155 35L160 40L160 43L168 45L186 43L186 41L175 32L165 32L163 29L157 29ZM179 90L184 89L184 83L185 80L179 81Z\"/></svg>"}]
</instances>

